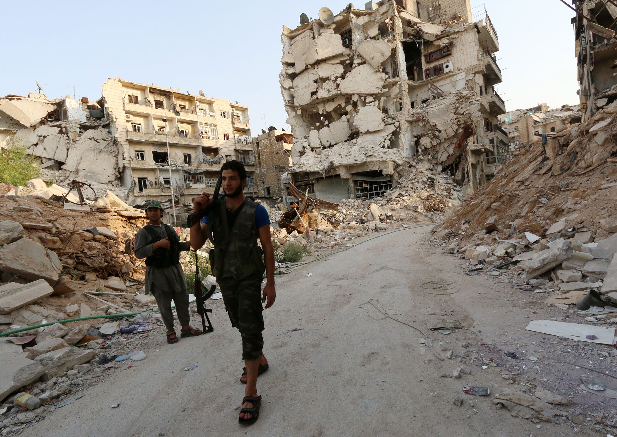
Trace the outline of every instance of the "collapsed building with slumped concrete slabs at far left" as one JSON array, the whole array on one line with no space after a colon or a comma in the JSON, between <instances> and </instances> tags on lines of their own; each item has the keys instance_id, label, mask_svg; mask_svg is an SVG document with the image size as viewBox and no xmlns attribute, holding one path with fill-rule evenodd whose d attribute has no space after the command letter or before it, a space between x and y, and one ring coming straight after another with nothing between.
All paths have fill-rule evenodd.
<instances>
[{"instance_id":1,"label":"collapsed building with slumped concrete slabs at far left","mask_svg":"<svg viewBox=\"0 0 617 437\"><path fill-rule=\"evenodd\" d=\"M48 99L9 94L0 98L0 148L23 148L41 168L65 180L111 184L118 175L118 148L97 102L66 96Z\"/></svg>"}]
</instances>

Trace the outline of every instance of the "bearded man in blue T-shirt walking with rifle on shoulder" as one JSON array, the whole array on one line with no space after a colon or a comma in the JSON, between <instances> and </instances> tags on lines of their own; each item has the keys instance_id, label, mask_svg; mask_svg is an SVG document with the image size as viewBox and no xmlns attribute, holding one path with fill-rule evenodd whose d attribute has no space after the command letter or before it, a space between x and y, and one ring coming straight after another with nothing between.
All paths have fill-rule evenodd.
<instances>
[{"instance_id":1,"label":"bearded man in blue T-shirt walking with rifle on shoulder","mask_svg":"<svg viewBox=\"0 0 617 437\"><path fill-rule=\"evenodd\" d=\"M218 197L222 186L225 196ZM246 383L239 423L251 424L259 418L261 396L257 396L257 376L268 370L263 355L262 303L266 308L276 299L274 286L274 249L270 236L270 219L262 205L247 199L246 170L241 162L231 160L221 167L214 199L203 193L193 203L189 220L191 245L201 248L208 238L212 275L217 278L231 325L242 337L242 360L246 367L241 382ZM203 220L198 220L203 217ZM262 245L257 245L257 238ZM263 248L263 250L262 250ZM262 260L263 254L263 260ZM266 285L261 290L263 272Z\"/></svg>"}]
</instances>

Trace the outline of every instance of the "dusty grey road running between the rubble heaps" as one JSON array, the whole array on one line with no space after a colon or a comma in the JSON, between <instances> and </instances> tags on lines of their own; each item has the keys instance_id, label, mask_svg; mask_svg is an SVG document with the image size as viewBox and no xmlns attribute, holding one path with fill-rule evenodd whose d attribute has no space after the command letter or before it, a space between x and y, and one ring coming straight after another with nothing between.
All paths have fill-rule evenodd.
<instances>
[{"instance_id":1,"label":"dusty grey road running between the rubble heaps","mask_svg":"<svg viewBox=\"0 0 617 437\"><path fill-rule=\"evenodd\" d=\"M276 304L265 311L270 370L259 378L259 421L238 425L244 393L238 332L222 301L213 302L215 331L171 348L152 336L147 359L115 371L85 397L27 427L23 436L560 436L569 425L513 418L491 397L465 385L505 388L503 367L470 364L471 375L443 378L471 358L421 353L421 334L358 306L379 299L394 317L428 333L437 351L473 356L484 343L528 338L528 318L507 303L508 284L462 273L454 257L426 243L429 228L384 235L276 277ZM357 241L357 240L354 240ZM311 273L309 275L309 273ZM421 290L455 280L455 294ZM505 295L508 293L508 296ZM428 331L424 317L447 312L466 327ZM374 313L374 312L373 312ZM375 314L372 314L374 317ZM549 317L549 316L543 316ZM296 331L290 331L294 329ZM443 344L440 346L440 341ZM462 348L468 343L468 348ZM478 352L479 353L479 352ZM501 353L501 352L498 352ZM465 360L465 361L463 361ZM183 368L199 364L194 370ZM525 364L525 363L522 363ZM453 399L463 397L461 407ZM471 407L468 401L472 400ZM120 407L112 409L112 404Z\"/></svg>"}]
</instances>

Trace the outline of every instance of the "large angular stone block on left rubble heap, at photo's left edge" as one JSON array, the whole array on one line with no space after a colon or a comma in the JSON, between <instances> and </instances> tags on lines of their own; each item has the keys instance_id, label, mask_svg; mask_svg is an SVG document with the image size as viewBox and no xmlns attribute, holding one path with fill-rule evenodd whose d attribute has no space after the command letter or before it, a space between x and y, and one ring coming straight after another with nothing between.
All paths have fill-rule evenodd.
<instances>
[{"instance_id":1,"label":"large angular stone block on left rubble heap, at photo's left edge","mask_svg":"<svg viewBox=\"0 0 617 437\"><path fill-rule=\"evenodd\" d=\"M31 281L44 279L49 285L54 285L58 280L58 272L46 249L28 238L18 239L0 248L0 270Z\"/></svg>"}]
</instances>

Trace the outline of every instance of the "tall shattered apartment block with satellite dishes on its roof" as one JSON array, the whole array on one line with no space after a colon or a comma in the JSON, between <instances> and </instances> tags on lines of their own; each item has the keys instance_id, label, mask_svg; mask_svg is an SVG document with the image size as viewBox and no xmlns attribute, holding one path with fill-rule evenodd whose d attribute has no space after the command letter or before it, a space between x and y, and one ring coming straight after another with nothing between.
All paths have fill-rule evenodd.
<instances>
[{"instance_id":1,"label":"tall shattered apartment block with satellite dishes on its roof","mask_svg":"<svg viewBox=\"0 0 617 437\"><path fill-rule=\"evenodd\" d=\"M336 202L372 198L402 166L449 170L470 194L508 157L488 15L468 0L349 5L283 27L280 81L296 186Z\"/></svg>"}]
</instances>

